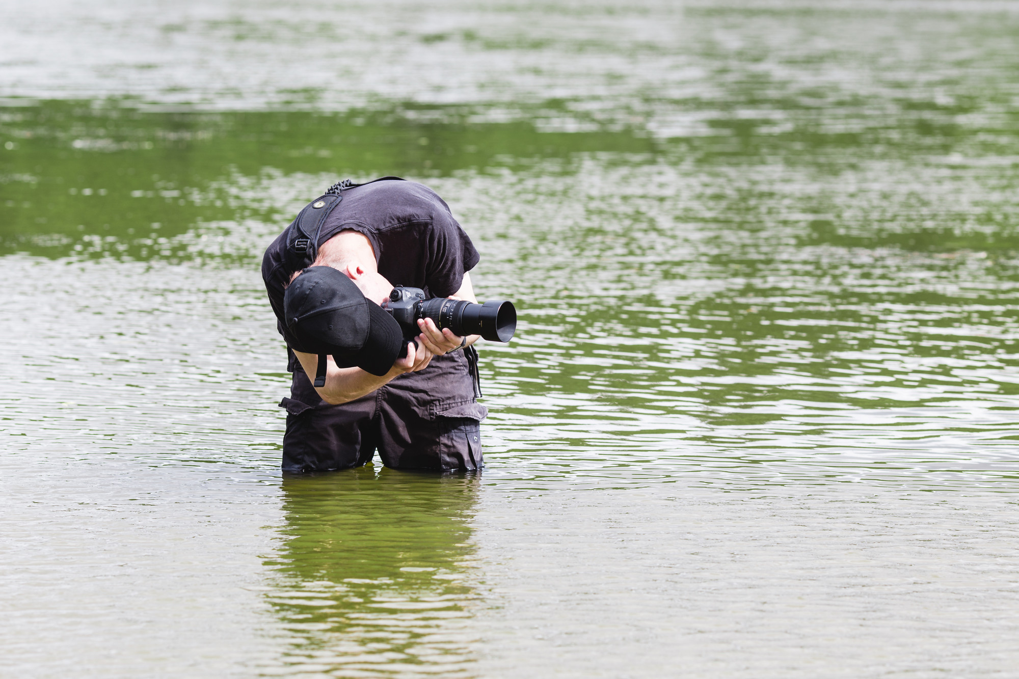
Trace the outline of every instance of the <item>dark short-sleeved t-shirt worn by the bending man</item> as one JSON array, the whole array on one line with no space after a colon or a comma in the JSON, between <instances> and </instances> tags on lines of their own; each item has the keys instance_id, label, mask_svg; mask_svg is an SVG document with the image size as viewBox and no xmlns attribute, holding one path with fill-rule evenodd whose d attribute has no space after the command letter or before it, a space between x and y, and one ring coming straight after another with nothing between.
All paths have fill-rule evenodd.
<instances>
[{"instance_id":1,"label":"dark short-sleeved t-shirt worn by the bending man","mask_svg":"<svg viewBox=\"0 0 1019 679\"><path fill-rule=\"evenodd\" d=\"M448 297L460 290L464 273L480 259L449 206L428 187L386 179L346 189L342 195L322 224L317 246L341 230L364 233L375 250L379 273L394 285L421 288L428 297ZM289 229L266 249L262 278L279 333L293 347L283 320L283 292L296 270L286 257Z\"/></svg>"}]
</instances>

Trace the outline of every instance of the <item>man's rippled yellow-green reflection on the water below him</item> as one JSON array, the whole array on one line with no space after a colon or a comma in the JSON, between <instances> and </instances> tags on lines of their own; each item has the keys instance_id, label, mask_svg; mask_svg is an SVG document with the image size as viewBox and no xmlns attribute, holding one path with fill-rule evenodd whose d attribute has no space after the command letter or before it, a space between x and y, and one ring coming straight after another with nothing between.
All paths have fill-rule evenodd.
<instances>
[{"instance_id":1,"label":"man's rippled yellow-green reflection on the water below him","mask_svg":"<svg viewBox=\"0 0 1019 679\"><path fill-rule=\"evenodd\" d=\"M281 663L331 676L470 673L470 521L479 477L371 465L284 477L267 593L294 634Z\"/></svg>"}]
</instances>

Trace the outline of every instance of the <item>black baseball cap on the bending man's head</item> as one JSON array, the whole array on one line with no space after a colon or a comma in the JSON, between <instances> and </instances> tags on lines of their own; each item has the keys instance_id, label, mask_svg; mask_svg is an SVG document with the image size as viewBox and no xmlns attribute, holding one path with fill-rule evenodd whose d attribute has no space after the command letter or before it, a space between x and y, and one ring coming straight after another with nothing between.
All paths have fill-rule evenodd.
<instances>
[{"instance_id":1,"label":"black baseball cap on the bending man's head","mask_svg":"<svg viewBox=\"0 0 1019 679\"><path fill-rule=\"evenodd\" d=\"M357 366L381 377L404 350L399 323L331 266L302 271L286 288L283 312L293 349L331 354L341 368Z\"/></svg>"}]
</instances>

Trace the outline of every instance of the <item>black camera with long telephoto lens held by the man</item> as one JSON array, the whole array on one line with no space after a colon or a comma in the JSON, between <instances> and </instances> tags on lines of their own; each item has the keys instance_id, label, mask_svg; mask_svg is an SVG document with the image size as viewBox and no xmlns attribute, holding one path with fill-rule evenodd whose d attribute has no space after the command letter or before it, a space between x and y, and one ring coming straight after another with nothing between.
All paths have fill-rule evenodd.
<instances>
[{"instance_id":1,"label":"black camera with long telephoto lens held by the man","mask_svg":"<svg viewBox=\"0 0 1019 679\"><path fill-rule=\"evenodd\" d=\"M504 300L484 304L445 297L426 300L425 291L420 288L397 285L382 308L396 319L408 341L421 332L420 318L431 318L439 330L447 327L461 337L480 334L491 342L509 342L517 331L517 308Z\"/></svg>"}]
</instances>

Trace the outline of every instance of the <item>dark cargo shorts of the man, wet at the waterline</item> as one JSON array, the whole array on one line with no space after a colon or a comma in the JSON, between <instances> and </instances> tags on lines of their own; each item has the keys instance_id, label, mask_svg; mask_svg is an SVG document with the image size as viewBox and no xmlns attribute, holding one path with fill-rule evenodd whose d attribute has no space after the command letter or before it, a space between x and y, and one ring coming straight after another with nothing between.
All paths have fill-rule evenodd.
<instances>
[{"instance_id":1,"label":"dark cargo shorts of the man, wet at the waterline","mask_svg":"<svg viewBox=\"0 0 1019 679\"><path fill-rule=\"evenodd\" d=\"M360 467L378 451L397 469L481 469L481 420L464 352L436 356L356 401L331 406L293 371L283 436L283 471Z\"/></svg>"}]
</instances>

